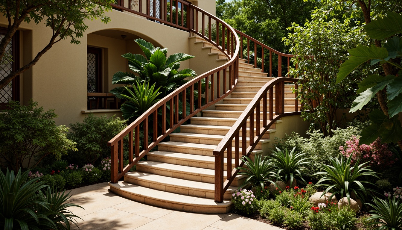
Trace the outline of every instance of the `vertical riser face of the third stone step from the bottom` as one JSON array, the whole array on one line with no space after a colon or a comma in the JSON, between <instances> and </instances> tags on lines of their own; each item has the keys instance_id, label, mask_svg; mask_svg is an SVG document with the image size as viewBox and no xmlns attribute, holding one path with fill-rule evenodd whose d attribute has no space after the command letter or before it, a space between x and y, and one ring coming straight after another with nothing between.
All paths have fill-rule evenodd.
<instances>
[{"instance_id":1,"label":"vertical riser face of the third stone step from the bottom","mask_svg":"<svg viewBox=\"0 0 402 230\"><path fill-rule=\"evenodd\" d=\"M189 174L185 172L176 172L171 170L160 170L151 167L144 167L141 165L137 165L137 171L140 172L148 172L152 174L162 175L162 176L169 176L174 178L180 178L185 180L194 180L194 181L201 181L206 183L215 183L214 176L207 176L207 175L197 175L197 174ZM224 173L224 180L226 180L226 172ZM235 178L231 184L231 186L239 186L244 182L245 178Z\"/></svg>"}]
</instances>

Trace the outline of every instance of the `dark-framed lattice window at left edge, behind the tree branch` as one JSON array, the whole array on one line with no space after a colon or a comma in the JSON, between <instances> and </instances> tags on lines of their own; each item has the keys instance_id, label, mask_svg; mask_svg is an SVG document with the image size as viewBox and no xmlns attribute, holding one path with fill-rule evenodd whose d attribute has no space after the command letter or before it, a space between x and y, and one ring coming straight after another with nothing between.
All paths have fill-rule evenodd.
<instances>
[{"instance_id":1,"label":"dark-framed lattice window at left edge, behind the tree branch","mask_svg":"<svg viewBox=\"0 0 402 230\"><path fill-rule=\"evenodd\" d=\"M7 33L7 28L0 27L0 40ZM9 62L5 58L0 60L0 79L3 79L10 73L20 68L20 44L19 31L16 31L11 39L11 42L6 47L6 52L11 55L12 61ZM0 89L0 110L6 109L6 105L10 100L20 100L20 76L18 75L4 88Z\"/></svg>"}]
</instances>

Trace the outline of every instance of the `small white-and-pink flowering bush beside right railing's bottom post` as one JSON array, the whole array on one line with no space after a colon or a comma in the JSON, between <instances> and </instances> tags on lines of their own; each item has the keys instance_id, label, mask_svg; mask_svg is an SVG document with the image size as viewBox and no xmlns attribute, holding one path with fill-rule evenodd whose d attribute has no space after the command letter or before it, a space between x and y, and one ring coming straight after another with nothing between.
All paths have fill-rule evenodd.
<instances>
[{"instance_id":1,"label":"small white-and-pink flowering bush beside right railing's bottom post","mask_svg":"<svg viewBox=\"0 0 402 230\"><path fill-rule=\"evenodd\" d=\"M257 199L255 199L253 191L251 190L248 191L247 189L240 189L236 193L233 193L232 202L233 208L236 211L247 214L251 214L256 211Z\"/></svg>"}]
</instances>

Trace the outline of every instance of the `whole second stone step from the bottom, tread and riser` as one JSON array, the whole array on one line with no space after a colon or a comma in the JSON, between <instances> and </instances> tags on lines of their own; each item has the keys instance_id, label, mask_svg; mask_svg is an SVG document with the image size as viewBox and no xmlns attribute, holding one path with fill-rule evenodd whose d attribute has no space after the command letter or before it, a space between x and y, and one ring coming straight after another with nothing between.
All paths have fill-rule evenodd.
<instances>
[{"instance_id":1,"label":"whole second stone step from the bottom, tread and riser","mask_svg":"<svg viewBox=\"0 0 402 230\"><path fill-rule=\"evenodd\" d=\"M215 195L215 184L161 176L146 172L128 172L124 175L124 181L151 189L193 197L213 199ZM237 187L230 186L224 194L224 199L230 200L232 194L236 192L236 189Z\"/></svg>"}]
</instances>

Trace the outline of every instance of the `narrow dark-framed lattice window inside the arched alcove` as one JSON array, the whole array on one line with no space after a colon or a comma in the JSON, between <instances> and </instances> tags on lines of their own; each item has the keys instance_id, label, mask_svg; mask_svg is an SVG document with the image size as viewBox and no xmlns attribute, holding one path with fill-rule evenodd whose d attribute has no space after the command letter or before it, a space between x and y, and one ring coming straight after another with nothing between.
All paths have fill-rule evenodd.
<instances>
[{"instance_id":1,"label":"narrow dark-framed lattice window inside the arched alcove","mask_svg":"<svg viewBox=\"0 0 402 230\"><path fill-rule=\"evenodd\" d=\"M88 93L102 93L102 49L88 46L87 53Z\"/></svg>"}]
</instances>

